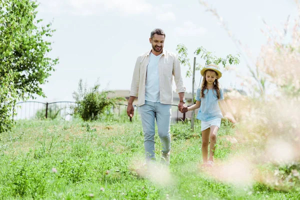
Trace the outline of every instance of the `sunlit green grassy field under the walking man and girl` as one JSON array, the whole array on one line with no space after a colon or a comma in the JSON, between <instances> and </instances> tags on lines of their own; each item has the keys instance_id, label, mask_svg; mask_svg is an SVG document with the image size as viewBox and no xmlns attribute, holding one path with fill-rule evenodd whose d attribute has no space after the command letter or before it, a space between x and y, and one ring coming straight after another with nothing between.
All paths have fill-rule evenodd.
<instances>
[{"instance_id":1,"label":"sunlit green grassy field under the walking man and girl","mask_svg":"<svg viewBox=\"0 0 300 200\"><path fill-rule=\"evenodd\" d=\"M229 184L211 178L199 168L199 125L192 133L189 124L173 124L171 134L169 173L158 165L156 177L144 177L136 173L143 161L139 121L17 121L11 132L0 135L0 198L300 199L297 189L283 192L258 182ZM216 164L246 148L226 139L233 134L223 122ZM159 152L157 135L155 141Z\"/></svg>"}]
</instances>

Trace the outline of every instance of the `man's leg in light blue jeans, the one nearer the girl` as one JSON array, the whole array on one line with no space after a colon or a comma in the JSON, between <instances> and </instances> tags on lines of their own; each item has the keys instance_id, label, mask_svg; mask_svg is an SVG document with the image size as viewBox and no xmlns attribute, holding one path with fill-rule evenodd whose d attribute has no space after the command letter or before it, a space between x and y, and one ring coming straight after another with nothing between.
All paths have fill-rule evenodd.
<instances>
[{"instance_id":1,"label":"man's leg in light blue jeans, the one nearer the girl","mask_svg":"<svg viewBox=\"0 0 300 200\"><path fill-rule=\"evenodd\" d=\"M171 122L171 105L155 103L156 110L156 124L158 135L162 144L162 154L168 156L171 150L171 135L170 135L170 122ZM166 158L166 157L165 157ZM166 160L168 162L169 160Z\"/></svg>"}]
</instances>

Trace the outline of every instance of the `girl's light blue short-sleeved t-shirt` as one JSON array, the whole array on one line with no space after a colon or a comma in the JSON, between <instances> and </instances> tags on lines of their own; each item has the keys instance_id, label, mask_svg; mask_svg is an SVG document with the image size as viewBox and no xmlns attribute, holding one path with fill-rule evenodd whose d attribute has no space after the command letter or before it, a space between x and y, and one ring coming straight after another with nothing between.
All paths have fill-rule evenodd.
<instances>
[{"instance_id":1,"label":"girl's light blue short-sleeved t-shirt","mask_svg":"<svg viewBox=\"0 0 300 200\"><path fill-rule=\"evenodd\" d=\"M197 119L201 121L209 121L215 118L222 118L223 115L218 105L218 101L224 99L222 89L220 89L220 99L217 99L215 89L205 89L204 98L200 98L200 91L201 87L198 87L196 100L201 101L201 106L197 114Z\"/></svg>"}]
</instances>

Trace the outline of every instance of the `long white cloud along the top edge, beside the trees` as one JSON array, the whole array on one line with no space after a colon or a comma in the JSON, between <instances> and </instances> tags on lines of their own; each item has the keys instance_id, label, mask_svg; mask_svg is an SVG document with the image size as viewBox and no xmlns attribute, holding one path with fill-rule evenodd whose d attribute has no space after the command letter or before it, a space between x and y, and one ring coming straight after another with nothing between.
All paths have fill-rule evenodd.
<instances>
[{"instance_id":1,"label":"long white cloud along the top edge, beside the trees","mask_svg":"<svg viewBox=\"0 0 300 200\"><path fill-rule=\"evenodd\" d=\"M117 11L123 15L150 12L152 5L145 0L41 0L43 11L92 15L106 11Z\"/></svg>"}]
</instances>

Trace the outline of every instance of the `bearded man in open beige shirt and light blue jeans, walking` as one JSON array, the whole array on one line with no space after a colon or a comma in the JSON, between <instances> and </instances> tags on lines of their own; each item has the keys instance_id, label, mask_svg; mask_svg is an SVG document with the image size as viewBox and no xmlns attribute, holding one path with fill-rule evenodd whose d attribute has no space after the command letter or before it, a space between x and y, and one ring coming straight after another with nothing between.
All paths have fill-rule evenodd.
<instances>
[{"instance_id":1,"label":"bearded man in open beige shirt and light blue jeans, walking","mask_svg":"<svg viewBox=\"0 0 300 200\"><path fill-rule=\"evenodd\" d=\"M158 135L162 143L162 157L165 164L168 165L171 143L170 120L173 100L173 76L180 99L178 109L187 106L184 99L185 87L183 86L179 60L174 53L163 49L164 39L165 33L163 30L154 29L149 38L152 49L137 57L129 93L127 114L133 117L132 103L135 97L138 96L137 104L139 105L138 109L144 132L146 162L155 159L154 119L156 119Z\"/></svg>"}]
</instances>

